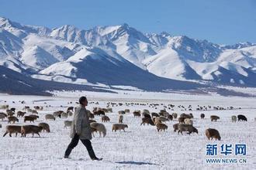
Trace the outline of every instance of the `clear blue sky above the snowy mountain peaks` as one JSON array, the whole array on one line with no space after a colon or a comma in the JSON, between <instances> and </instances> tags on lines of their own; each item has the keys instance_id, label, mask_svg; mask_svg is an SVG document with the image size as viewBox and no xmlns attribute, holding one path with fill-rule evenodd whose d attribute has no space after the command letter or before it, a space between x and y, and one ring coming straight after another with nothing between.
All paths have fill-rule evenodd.
<instances>
[{"instance_id":1,"label":"clear blue sky above the snowy mountain peaks","mask_svg":"<svg viewBox=\"0 0 256 170\"><path fill-rule=\"evenodd\" d=\"M256 0L0 0L0 15L23 24L80 29L127 23L220 44L256 42Z\"/></svg>"}]
</instances>

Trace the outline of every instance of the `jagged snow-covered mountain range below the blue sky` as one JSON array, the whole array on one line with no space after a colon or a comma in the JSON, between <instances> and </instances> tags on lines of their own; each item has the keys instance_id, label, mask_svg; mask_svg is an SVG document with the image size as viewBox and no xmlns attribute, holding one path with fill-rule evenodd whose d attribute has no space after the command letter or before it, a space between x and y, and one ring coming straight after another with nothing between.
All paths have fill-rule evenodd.
<instances>
[{"instance_id":1,"label":"jagged snow-covered mountain range below the blue sky","mask_svg":"<svg viewBox=\"0 0 256 170\"><path fill-rule=\"evenodd\" d=\"M256 44L223 46L127 24L48 29L0 18L0 65L36 79L87 85L256 86Z\"/></svg>"}]
</instances>

